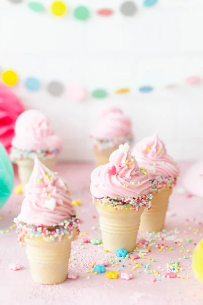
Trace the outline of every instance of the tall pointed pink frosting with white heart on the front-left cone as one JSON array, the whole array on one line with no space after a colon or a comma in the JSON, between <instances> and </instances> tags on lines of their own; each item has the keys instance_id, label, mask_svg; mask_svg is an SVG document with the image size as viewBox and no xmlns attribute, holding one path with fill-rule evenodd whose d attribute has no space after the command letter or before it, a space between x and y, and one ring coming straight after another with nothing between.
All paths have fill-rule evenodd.
<instances>
[{"instance_id":1,"label":"tall pointed pink frosting with white heart on the front-left cone","mask_svg":"<svg viewBox=\"0 0 203 305\"><path fill-rule=\"evenodd\" d=\"M66 182L36 158L18 220L36 226L54 226L75 214Z\"/></svg>"}]
</instances>

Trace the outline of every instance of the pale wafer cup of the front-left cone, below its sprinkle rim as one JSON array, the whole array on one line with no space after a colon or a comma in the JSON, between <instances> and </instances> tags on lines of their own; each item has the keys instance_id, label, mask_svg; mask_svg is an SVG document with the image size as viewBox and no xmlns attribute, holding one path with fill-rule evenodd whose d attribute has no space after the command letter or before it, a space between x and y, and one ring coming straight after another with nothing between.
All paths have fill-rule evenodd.
<instances>
[{"instance_id":1,"label":"pale wafer cup of the front-left cone, below its sprinkle rim","mask_svg":"<svg viewBox=\"0 0 203 305\"><path fill-rule=\"evenodd\" d=\"M26 253L33 281L53 285L67 278L67 267L74 240L64 236L61 241L45 241L43 238L25 238Z\"/></svg>"}]
</instances>

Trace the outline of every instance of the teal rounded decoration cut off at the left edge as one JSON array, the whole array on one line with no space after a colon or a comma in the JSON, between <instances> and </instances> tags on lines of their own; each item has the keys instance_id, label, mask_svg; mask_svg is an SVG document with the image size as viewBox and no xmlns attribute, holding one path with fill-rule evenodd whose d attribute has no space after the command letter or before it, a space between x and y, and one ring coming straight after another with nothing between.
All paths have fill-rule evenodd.
<instances>
[{"instance_id":1,"label":"teal rounded decoration cut off at the left edge","mask_svg":"<svg viewBox=\"0 0 203 305\"><path fill-rule=\"evenodd\" d=\"M0 208L9 199L14 185L13 166L6 149L0 143Z\"/></svg>"}]
</instances>

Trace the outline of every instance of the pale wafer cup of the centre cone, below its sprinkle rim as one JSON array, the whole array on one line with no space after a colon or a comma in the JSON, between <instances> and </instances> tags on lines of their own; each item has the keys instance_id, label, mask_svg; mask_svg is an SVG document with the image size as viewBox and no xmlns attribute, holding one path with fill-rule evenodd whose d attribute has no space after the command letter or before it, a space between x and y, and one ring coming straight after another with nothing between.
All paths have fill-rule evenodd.
<instances>
[{"instance_id":1,"label":"pale wafer cup of the centre cone, below its sprinkle rim","mask_svg":"<svg viewBox=\"0 0 203 305\"><path fill-rule=\"evenodd\" d=\"M101 206L96 203L103 247L109 252L118 249L133 251L140 226L140 218L144 207L139 211L131 209L115 210L110 205Z\"/></svg>"}]
</instances>

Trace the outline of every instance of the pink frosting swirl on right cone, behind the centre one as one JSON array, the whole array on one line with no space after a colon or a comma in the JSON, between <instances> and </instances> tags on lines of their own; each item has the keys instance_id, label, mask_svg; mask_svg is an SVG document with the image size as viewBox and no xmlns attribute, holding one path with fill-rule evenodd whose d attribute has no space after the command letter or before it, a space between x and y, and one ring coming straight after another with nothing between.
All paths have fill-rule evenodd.
<instances>
[{"instance_id":1,"label":"pink frosting swirl on right cone, behind the centre one","mask_svg":"<svg viewBox=\"0 0 203 305\"><path fill-rule=\"evenodd\" d=\"M179 175L179 167L172 157L167 155L165 145L157 134L146 137L137 143L132 154L136 156L139 166L147 169L152 179L160 176L175 178Z\"/></svg>"}]
</instances>

